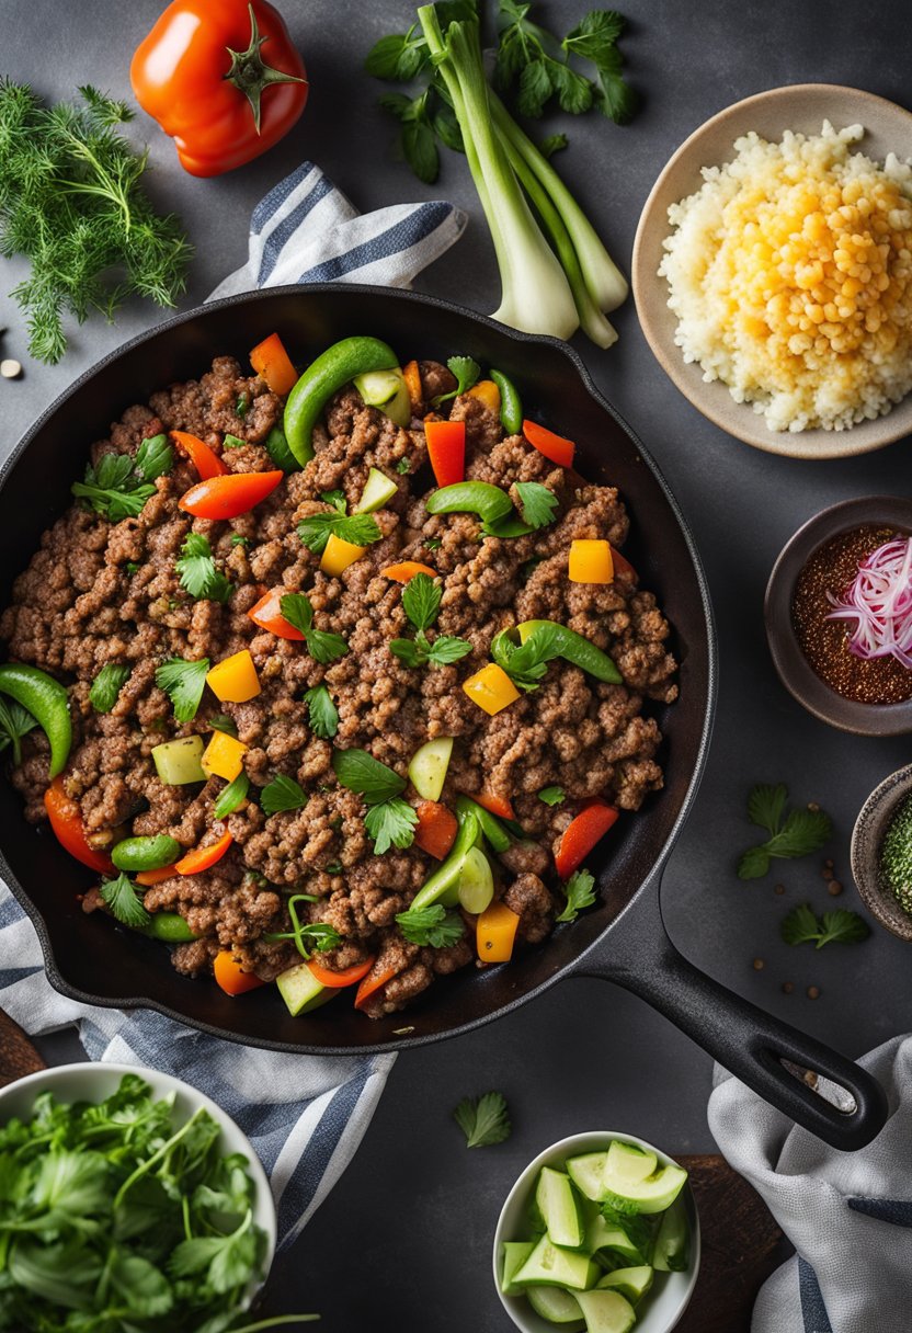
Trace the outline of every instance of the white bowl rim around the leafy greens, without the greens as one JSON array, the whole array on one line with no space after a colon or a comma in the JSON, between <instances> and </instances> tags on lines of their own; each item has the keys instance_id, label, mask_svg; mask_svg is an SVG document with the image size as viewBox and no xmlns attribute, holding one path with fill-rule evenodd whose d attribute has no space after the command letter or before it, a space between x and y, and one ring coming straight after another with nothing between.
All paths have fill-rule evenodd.
<instances>
[{"instance_id":1,"label":"white bowl rim around the leafy greens, without the greens","mask_svg":"<svg viewBox=\"0 0 912 1333\"><path fill-rule=\"evenodd\" d=\"M247 1298L237 1309L240 1313L251 1305L263 1286L276 1253L276 1205L267 1173L263 1170L249 1138L211 1097L172 1074L159 1073L157 1069L145 1069L141 1065L107 1062L56 1065L53 1069L41 1069L36 1074L28 1074L25 1078L19 1078L16 1082L0 1088L0 1124L12 1120L13 1116L20 1120L28 1118L35 1098L43 1092L52 1092L61 1102L104 1101L105 1097L117 1090L124 1074L139 1074L140 1078L145 1080L152 1088L156 1101L175 1093L172 1120L177 1128L185 1124L200 1108L208 1110L221 1128L219 1145L221 1152L225 1156L243 1153L247 1157L247 1169L253 1181L253 1221L265 1232L267 1244L263 1256L263 1277L251 1282Z\"/></svg>"}]
</instances>

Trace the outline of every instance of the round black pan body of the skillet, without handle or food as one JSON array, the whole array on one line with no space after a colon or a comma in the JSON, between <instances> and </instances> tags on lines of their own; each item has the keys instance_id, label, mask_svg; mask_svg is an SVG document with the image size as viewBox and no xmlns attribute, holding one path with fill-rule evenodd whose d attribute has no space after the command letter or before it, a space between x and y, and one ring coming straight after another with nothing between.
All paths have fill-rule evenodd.
<instances>
[{"instance_id":1,"label":"round black pan body of the skillet, without handle or food","mask_svg":"<svg viewBox=\"0 0 912 1333\"><path fill-rule=\"evenodd\" d=\"M577 443L577 465L592 481L617 485L631 516L624 547L668 616L681 663L681 696L659 710L665 734L665 789L641 812L625 814L591 858L600 874L601 904L544 945L485 973L440 978L405 1012L371 1021L345 1001L312 1017L292 1018L275 988L239 1000L215 984L179 976L160 944L113 922L85 916L76 894L91 872L63 852L49 829L23 818L21 800L0 781L0 872L29 913L41 938L48 976L64 994L89 1004L147 1006L216 1036L287 1050L352 1053L432 1041L485 1022L544 989L579 964L580 956L653 876L668 854L703 770L712 701L715 653L709 603L692 540L655 464L588 379L564 344L513 333L411 292L320 284L275 288L215 301L177 316L127 344L81 377L20 441L0 473L3 561L0 595L37 548L41 532L69 504L92 441L133 403L175 381L199 379L216 355L247 365L248 352L279 331L292 360L305 365L323 348L352 333L387 340L409 357L445 361L471 353L511 376L527 415ZM397 1038L396 1028L413 1032Z\"/></svg>"}]
</instances>

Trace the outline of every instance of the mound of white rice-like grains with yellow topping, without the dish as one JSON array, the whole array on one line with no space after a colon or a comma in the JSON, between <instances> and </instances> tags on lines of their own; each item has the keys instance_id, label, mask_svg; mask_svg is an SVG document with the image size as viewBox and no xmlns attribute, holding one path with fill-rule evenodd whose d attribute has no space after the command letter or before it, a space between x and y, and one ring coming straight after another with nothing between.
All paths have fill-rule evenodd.
<instances>
[{"instance_id":1,"label":"mound of white rice-like grains with yellow topping, without the dish","mask_svg":"<svg viewBox=\"0 0 912 1333\"><path fill-rule=\"evenodd\" d=\"M675 343L771 431L843 431L912 389L912 168L861 125L751 132L668 209Z\"/></svg>"}]
</instances>

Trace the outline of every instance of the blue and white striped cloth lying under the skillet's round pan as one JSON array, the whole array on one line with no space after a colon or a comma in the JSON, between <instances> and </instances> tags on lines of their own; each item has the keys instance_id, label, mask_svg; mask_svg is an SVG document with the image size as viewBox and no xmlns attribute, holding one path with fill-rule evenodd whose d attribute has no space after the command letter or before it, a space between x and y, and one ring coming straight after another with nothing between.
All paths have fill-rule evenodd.
<instances>
[{"instance_id":1,"label":"blue and white striped cloth lying under the skillet's round pan","mask_svg":"<svg viewBox=\"0 0 912 1333\"><path fill-rule=\"evenodd\" d=\"M319 167L304 163L253 209L248 263L209 300L283 283L408 287L464 227L465 215L443 201L359 215ZM92 1060L165 1070L219 1102L248 1134L269 1174L280 1249L295 1240L351 1161L396 1058L287 1056L252 1046L239 1058L235 1044L161 1014L67 1000L47 980L32 924L3 884L0 1008L32 1034L76 1024Z\"/></svg>"}]
</instances>

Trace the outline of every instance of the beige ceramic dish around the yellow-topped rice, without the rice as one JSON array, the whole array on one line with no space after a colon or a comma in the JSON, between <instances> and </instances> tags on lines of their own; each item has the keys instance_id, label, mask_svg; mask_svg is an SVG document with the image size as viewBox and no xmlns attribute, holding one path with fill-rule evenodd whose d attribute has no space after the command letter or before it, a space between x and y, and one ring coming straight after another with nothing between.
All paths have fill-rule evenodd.
<instances>
[{"instance_id":1,"label":"beige ceramic dish around the yellow-topped rice, without the rice","mask_svg":"<svg viewBox=\"0 0 912 1333\"><path fill-rule=\"evenodd\" d=\"M720 111L685 139L652 188L633 243L633 296L643 332L659 364L697 411L729 435L768 453L792 459L841 459L880 449L912 433L912 395L876 421L848 431L771 431L749 403L736 403L724 384L707 384L699 365L684 363L675 345L677 317L668 307L668 283L659 277L661 243L668 236L668 207L695 193L703 167L719 167L735 156L735 140L755 129L779 140L783 132L820 133L824 120L836 129L861 124L864 139L855 151L883 161L888 152L912 156L912 113L873 93L837 84L793 84L745 97Z\"/></svg>"}]
</instances>

